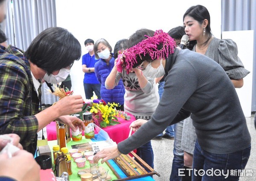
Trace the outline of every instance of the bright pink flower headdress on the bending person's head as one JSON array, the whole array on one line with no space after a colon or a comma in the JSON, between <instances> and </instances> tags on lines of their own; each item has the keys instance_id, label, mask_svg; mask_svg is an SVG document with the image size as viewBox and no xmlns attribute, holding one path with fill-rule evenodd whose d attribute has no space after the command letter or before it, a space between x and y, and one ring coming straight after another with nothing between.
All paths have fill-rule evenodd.
<instances>
[{"instance_id":1,"label":"bright pink flower headdress on the bending person's head","mask_svg":"<svg viewBox=\"0 0 256 181\"><path fill-rule=\"evenodd\" d=\"M145 37L148 37L145 35ZM157 45L163 44L163 48L157 49ZM136 58L142 55L145 56L149 54L152 60L158 58L168 57L169 54L173 54L176 43L169 34L163 32L163 30L157 30L153 37L148 37L142 40L137 45L128 48L119 54L116 63L117 71L122 72L123 69L126 70L127 74L131 71L133 65L137 63Z\"/></svg>"}]
</instances>

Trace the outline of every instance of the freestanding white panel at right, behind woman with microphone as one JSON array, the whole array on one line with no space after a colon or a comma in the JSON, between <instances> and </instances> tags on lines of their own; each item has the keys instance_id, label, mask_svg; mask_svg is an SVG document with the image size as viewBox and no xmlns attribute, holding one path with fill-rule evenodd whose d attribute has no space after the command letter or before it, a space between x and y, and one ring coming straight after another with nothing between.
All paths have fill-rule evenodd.
<instances>
[{"instance_id":1,"label":"freestanding white panel at right, behind woman with microphone","mask_svg":"<svg viewBox=\"0 0 256 181\"><path fill-rule=\"evenodd\" d=\"M253 85L253 30L223 31L222 39L232 39L238 47L238 56L244 64L244 68L250 71L244 77L244 86L236 88L245 117L251 116L252 85Z\"/></svg>"}]
</instances>

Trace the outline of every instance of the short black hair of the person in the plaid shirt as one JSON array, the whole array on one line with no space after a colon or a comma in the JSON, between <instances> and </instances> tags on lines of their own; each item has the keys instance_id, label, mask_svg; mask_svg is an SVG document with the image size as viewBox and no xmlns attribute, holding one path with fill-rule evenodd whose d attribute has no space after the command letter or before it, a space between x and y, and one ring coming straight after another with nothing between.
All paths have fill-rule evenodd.
<instances>
[{"instance_id":1,"label":"short black hair of the person in the plaid shirt","mask_svg":"<svg viewBox=\"0 0 256 181\"><path fill-rule=\"evenodd\" d=\"M72 66L75 60L79 60L81 45L67 29L47 28L35 37L24 55L51 74L53 71Z\"/></svg>"}]
</instances>

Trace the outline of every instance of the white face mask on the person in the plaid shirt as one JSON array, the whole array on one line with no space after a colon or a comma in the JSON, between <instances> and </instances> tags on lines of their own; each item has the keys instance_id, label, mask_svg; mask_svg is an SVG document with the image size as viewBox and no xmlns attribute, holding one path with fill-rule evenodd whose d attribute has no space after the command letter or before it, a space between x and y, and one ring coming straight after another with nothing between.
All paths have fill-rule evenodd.
<instances>
[{"instance_id":1,"label":"white face mask on the person in the plaid shirt","mask_svg":"<svg viewBox=\"0 0 256 181\"><path fill-rule=\"evenodd\" d=\"M58 75L48 75L47 73L44 75L44 80L51 84L58 84L59 82L67 79L67 76L70 74L70 70L66 68L61 68Z\"/></svg>"}]
</instances>

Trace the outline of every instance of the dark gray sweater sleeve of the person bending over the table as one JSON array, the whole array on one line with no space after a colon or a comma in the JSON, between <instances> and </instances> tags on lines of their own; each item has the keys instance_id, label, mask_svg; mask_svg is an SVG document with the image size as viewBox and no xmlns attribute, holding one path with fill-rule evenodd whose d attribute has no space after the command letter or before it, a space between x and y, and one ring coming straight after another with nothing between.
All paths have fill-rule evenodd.
<instances>
[{"instance_id":1,"label":"dark gray sweater sleeve of the person bending over the table","mask_svg":"<svg viewBox=\"0 0 256 181\"><path fill-rule=\"evenodd\" d=\"M192 66L187 61L179 63L172 68L166 76L163 96L151 119L143 124L132 136L117 144L118 150L123 154L128 154L146 142L153 139L170 124L175 123L177 114L181 116L180 109L194 93L197 88L197 75ZM186 70L186 71L180 71ZM181 116L189 116L187 112Z\"/></svg>"}]
</instances>

